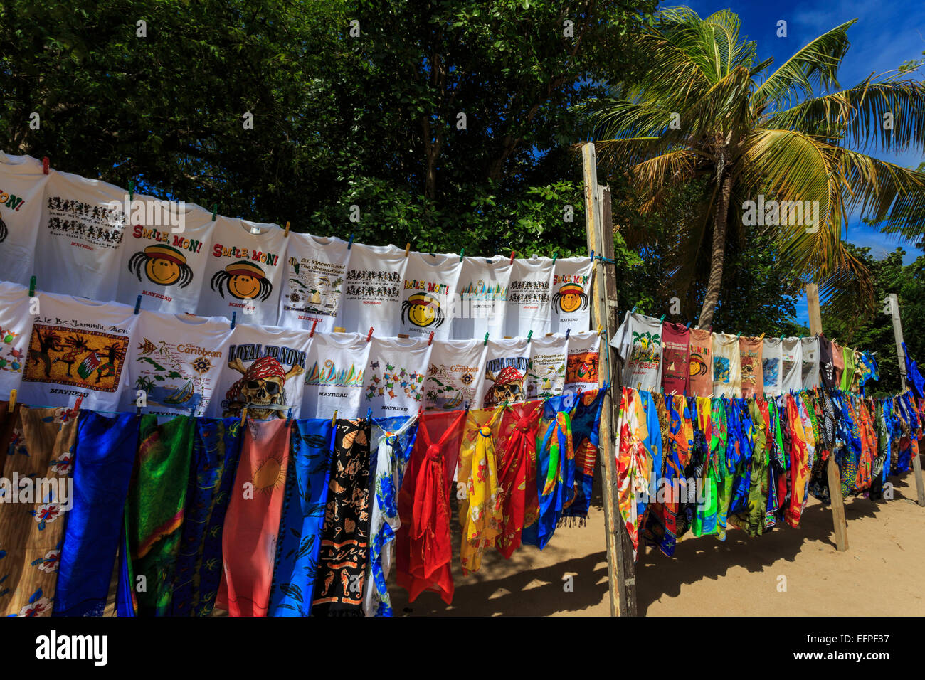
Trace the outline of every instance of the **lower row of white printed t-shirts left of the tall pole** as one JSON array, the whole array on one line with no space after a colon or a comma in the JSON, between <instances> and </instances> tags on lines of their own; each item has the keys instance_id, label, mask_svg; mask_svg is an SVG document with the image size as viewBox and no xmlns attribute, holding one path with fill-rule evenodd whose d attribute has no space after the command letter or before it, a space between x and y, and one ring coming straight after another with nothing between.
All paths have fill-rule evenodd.
<instances>
[{"instance_id":1,"label":"lower row of white printed t-shirts left of the tall pole","mask_svg":"<svg viewBox=\"0 0 925 680\"><path fill-rule=\"evenodd\" d=\"M597 389L593 331L527 341L380 338L150 312L0 282L0 399L98 411L378 417Z\"/></svg>"}]
</instances>

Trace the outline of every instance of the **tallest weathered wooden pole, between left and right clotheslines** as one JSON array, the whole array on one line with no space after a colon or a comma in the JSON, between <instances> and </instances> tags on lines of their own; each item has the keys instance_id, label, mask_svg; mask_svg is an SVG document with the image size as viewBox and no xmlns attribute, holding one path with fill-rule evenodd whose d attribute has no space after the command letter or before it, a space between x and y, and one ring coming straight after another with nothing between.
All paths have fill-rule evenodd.
<instances>
[{"instance_id":1,"label":"tallest weathered wooden pole, between left and right clotheslines","mask_svg":"<svg viewBox=\"0 0 925 680\"><path fill-rule=\"evenodd\" d=\"M582 166L585 179L585 215L587 247L597 255L613 260L613 222L611 217L611 191L598 186L598 165L594 144L582 147ZM620 407L620 367L617 353L611 350L610 340L617 330L617 281L616 271L611 263L595 260L592 282L592 328L598 325L607 329L602 340L600 354L601 369L598 371L598 385L605 379L611 382L608 402L600 415L600 464L604 480L602 494L604 501L604 526L607 536L607 576L611 593L611 616L635 616L635 563L630 550L629 536L620 520L617 490L617 422ZM608 357L610 361L608 361Z\"/></svg>"}]
</instances>

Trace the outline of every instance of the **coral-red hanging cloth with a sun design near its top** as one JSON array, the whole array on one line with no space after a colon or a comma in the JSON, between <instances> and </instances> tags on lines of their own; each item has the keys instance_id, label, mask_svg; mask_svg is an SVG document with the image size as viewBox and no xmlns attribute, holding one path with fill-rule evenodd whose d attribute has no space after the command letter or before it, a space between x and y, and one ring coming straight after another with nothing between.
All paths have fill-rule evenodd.
<instances>
[{"instance_id":1,"label":"coral-red hanging cloth with a sun design near its top","mask_svg":"<svg viewBox=\"0 0 925 680\"><path fill-rule=\"evenodd\" d=\"M249 418L222 530L216 607L230 616L266 616L289 464L290 422Z\"/></svg>"}]
</instances>

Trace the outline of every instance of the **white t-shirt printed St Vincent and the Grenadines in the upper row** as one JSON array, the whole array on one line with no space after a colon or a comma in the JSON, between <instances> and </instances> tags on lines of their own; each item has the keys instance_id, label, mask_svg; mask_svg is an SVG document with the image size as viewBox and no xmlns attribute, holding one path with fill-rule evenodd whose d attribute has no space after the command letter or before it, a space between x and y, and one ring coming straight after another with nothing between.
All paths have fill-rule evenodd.
<instances>
[{"instance_id":1,"label":"white t-shirt printed St Vincent and the Grenadines in the upper row","mask_svg":"<svg viewBox=\"0 0 925 680\"><path fill-rule=\"evenodd\" d=\"M341 325L340 299L352 248L335 237L290 233L279 295L279 325L329 333Z\"/></svg>"}]
</instances>

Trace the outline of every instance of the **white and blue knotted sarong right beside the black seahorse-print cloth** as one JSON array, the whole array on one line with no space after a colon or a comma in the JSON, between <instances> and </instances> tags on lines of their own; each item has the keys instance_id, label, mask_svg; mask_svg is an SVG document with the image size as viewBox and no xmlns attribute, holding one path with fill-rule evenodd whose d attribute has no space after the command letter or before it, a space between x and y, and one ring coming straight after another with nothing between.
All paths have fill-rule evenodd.
<instances>
[{"instance_id":1,"label":"white and blue knotted sarong right beside the black seahorse-print cloth","mask_svg":"<svg viewBox=\"0 0 925 680\"><path fill-rule=\"evenodd\" d=\"M363 598L366 616L392 615L386 581L395 560L395 535L401 526L399 489L416 435L416 414L373 419L371 450L376 450L376 473L369 529L369 569Z\"/></svg>"}]
</instances>

